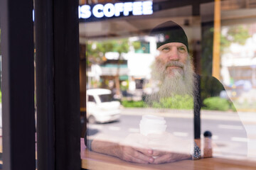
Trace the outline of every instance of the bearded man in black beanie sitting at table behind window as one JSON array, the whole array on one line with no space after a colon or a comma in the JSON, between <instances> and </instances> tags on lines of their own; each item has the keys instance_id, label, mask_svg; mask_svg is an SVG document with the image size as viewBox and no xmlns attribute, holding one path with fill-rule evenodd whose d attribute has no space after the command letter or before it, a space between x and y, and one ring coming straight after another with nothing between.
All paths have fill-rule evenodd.
<instances>
[{"instance_id":1,"label":"bearded man in black beanie sitting at table behind window","mask_svg":"<svg viewBox=\"0 0 256 170\"><path fill-rule=\"evenodd\" d=\"M149 147L136 147L120 143L92 140L87 147L95 152L119 157L127 162L142 164L161 164L181 159L200 159L200 110L202 101L212 96L220 96L224 87L214 77L201 77L194 72L191 57L188 55L188 38L181 26L168 21L156 26L150 33L156 38L158 55L152 69L152 77L159 82L159 91L146 97L146 103L151 106L162 98L190 96L193 98L194 112L194 143L193 154L178 154L166 150L151 149ZM137 136L138 137L138 136ZM131 137L130 137L131 138ZM134 138L136 138L134 136ZM143 139L142 139L143 140ZM170 143L169 146L186 147L181 140ZM129 141L127 141L129 143Z\"/></svg>"}]
</instances>

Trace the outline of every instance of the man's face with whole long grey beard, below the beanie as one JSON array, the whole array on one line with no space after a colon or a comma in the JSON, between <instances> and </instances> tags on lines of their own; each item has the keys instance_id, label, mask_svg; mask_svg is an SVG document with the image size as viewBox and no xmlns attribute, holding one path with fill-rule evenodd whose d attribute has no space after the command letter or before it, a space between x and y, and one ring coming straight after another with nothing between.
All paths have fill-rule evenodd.
<instances>
[{"instance_id":1,"label":"man's face with whole long grey beard, below the beanie","mask_svg":"<svg viewBox=\"0 0 256 170\"><path fill-rule=\"evenodd\" d=\"M159 85L159 93L149 96L146 101L154 103L159 101L159 98L175 95L193 96L195 72L186 45L181 42L169 42L157 50L159 55L152 65L151 75Z\"/></svg>"}]
</instances>

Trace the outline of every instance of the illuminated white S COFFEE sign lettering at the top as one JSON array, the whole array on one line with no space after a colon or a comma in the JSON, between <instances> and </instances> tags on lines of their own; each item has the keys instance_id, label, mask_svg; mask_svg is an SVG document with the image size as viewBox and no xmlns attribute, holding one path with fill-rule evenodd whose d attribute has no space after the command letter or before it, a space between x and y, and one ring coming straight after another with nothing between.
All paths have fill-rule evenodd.
<instances>
[{"instance_id":1,"label":"illuminated white S COFFEE sign lettering at the top","mask_svg":"<svg viewBox=\"0 0 256 170\"><path fill-rule=\"evenodd\" d=\"M151 15L153 13L152 1L135 1L116 4L96 4L95 6L83 5L79 6L79 18L87 19L92 16L96 18L102 17L118 17L118 16L142 16Z\"/></svg>"}]
</instances>

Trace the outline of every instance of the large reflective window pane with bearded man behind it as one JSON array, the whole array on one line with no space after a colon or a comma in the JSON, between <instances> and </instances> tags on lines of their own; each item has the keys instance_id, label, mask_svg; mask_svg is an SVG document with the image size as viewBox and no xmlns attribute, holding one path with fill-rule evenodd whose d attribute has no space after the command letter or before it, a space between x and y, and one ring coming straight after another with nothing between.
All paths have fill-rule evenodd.
<instances>
[{"instance_id":1,"label":"large reflective window pane with bearded man behind it","mask_svg":"<svg viewBox=\"0 0 256 170\"><path fill-rule=\"evenodd\" d=\"M100 94L105 105L87 106L87 118L95 118L87 124L90 153L159 169L186 164L197 147L201 157L255 160L254 3L116 3L86 1L80 8L91 10L80 18L83 86L114 98ZM139 154L149 149L153 160L124 157L124 150L115 155L115 145Z\"/></svg>"}]
</instances>

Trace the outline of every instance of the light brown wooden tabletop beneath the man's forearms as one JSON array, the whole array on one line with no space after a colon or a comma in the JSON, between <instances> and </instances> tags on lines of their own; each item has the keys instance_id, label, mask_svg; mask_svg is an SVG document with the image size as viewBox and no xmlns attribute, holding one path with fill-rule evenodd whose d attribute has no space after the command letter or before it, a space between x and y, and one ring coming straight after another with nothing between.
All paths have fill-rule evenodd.
<instances>
[{"instance_id":1,"label":"light brown wooden tabletop beneath the man's forearms","mask_svg":"<svg viewBox=\"0 0 256 170\"><path fill-rule=\"evenodd\" d=\"M111 169L111 170L140 170L140 169L168 169L168 170L240 170L240 169L256 169L256 162L248 162L242 160L208 158L196 161L183 160L168 164L134 164L124 162L116 157L89 152L85 149L83 140L81 139L81 159L83 169Z\"/></svg>"}]
</instances>

